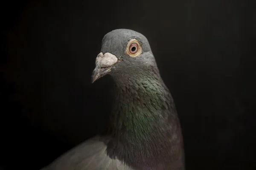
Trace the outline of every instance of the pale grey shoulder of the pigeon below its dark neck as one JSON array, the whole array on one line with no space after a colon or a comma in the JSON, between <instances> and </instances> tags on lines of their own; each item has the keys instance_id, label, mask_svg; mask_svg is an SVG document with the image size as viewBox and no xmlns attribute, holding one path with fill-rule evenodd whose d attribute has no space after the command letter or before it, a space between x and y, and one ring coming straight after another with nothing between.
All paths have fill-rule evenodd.
<instances>
[{"instance_id":1,"label":"pale grey shoulder of the pigeon below its dark neck","mask_svg":"<svg viewBox=\"0 0 256 170\"><path fill-rule=\"evenodd\" d=\"M134 170L106 154L106 144L95 136L64 153L41 170Z\"/></svg>"}]
</instances>

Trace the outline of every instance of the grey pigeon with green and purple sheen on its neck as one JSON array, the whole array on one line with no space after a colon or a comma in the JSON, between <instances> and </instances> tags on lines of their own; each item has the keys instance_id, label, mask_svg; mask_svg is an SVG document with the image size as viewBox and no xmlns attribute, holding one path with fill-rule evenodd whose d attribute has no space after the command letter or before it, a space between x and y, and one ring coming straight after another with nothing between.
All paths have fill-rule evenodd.
<instances>
[{"instance_id":1,"label":"grey pigeon with green and purple sheen on its neck","mask_svg":"<svg viewBox=\"0 0 256 170\"><path fill-rule=\"evenodd\" d=\"M185 170L180 121L147 38L113 30L95 64L92 82L106 74L114 81L108 128L43 170Z\"/></svg>"}]
</instances>

